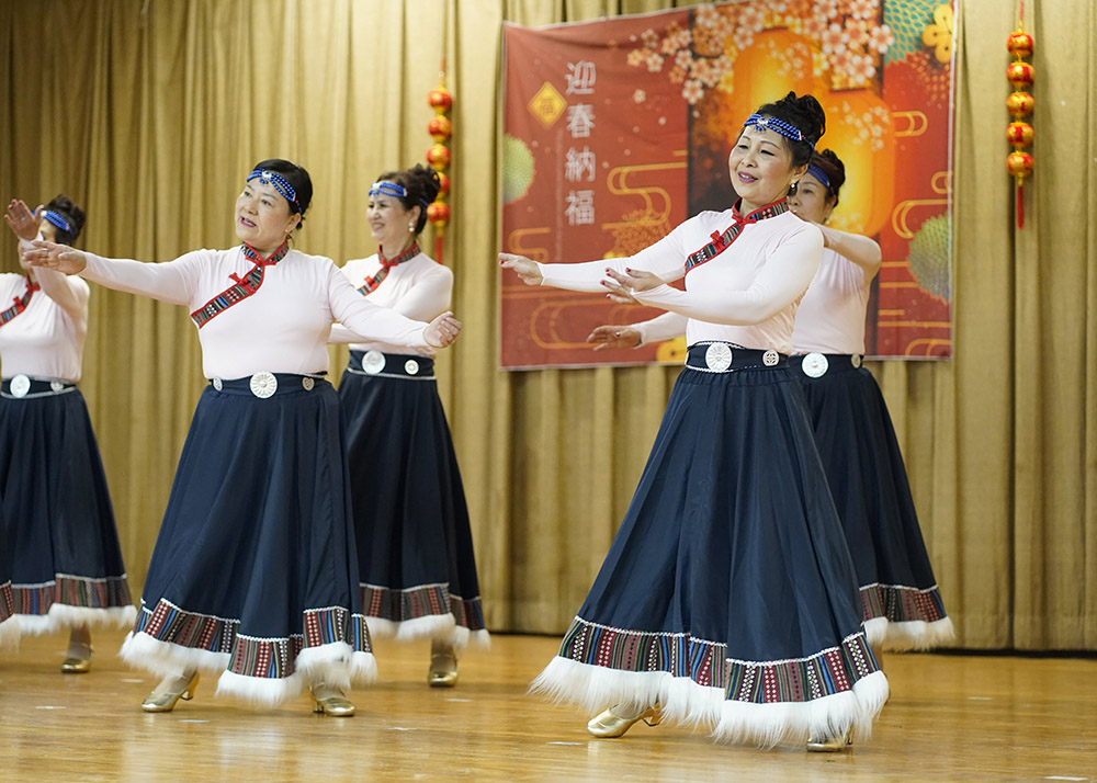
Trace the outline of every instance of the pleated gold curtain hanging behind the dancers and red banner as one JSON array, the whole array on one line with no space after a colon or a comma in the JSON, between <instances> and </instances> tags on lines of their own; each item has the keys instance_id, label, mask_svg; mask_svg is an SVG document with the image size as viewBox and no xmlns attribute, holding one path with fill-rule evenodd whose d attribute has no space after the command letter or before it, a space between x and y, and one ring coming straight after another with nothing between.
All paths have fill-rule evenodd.
<instances>
[{"instance_id":1,"label":"pleated gold curtain hanging behind the dancers and red banner","mask_svg":"<svg viewBox=\"0 0 1097 783\"><path fill-rule=\"evenodd\" d=\"M490 627L561 632L627 506L676 370L498 371L500 25L660 0L22 0L0 7L0 197L86 206L97 252L235 243L244 174L313 175L297 239L372 251L365 190L422 159L453 91L446 263L465 324L439 362ZM681 3L685 4L685 3ZM1034 5L1034 8L1033 8ZM1037 112L1013 229L1003 101L1011 3L957 14L954 360L877 364L958 644L1097 649L1097 0L1029 3ZM0 263L14 271L13 241ZM346 354L332 350L338 374ZM97 288L84 395L133 587L203 384L182 308Z\"/></svg>"}]
</instances>

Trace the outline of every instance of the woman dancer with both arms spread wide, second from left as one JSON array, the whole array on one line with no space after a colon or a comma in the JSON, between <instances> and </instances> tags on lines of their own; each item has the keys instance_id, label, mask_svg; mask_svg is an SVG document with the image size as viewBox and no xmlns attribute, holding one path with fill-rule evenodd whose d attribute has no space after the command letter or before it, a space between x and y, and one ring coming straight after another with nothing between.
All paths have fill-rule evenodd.
<instances>
[{"instance_id":1,"label":"woman dancer with both arms spread wide, second from left","mask_svg":"<svg viewBox=\"0 0 1097 783\"><path fill-rule=\"evenodd\" d=\"M362 616L339 398L327 371L331 324L423 349L430 325L365 302L330 259L290 247L312 198L286 160L255 167L236 202L230 250L167 263L104 259L36 241L23 258L120 291L186 305L199 329L202 393L122 656L163 677L142 705L190 699L199 670L218 692L276 706L308 684L314 710L352 715L343 690L374 672Z\"/></svg>"}]
</instances>

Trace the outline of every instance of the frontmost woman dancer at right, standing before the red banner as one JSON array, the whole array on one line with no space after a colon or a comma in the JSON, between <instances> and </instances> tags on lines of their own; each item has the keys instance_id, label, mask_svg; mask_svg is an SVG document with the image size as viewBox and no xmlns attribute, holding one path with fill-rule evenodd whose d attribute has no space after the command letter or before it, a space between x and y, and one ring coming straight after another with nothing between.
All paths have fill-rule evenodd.
<instances>
[{"instance_id":1,"label":"frontmost woman dancer at right, standing before the red banner","mask_svg":"<svg viewBox=\"0 0 1097 783\"><path fill-rule=\"evenodd\" d=\"M886 699L784 355L823 247L784 196L824 123L810 95L760 107L728 157L736 205L631 258L542 265L500 256L531 285L606 286L690 318L687 366L640 486L533 685L610 705L588 724L596 736L661 716L710 726L721 741L840 749ZM685 292L664 284L683 275Z\"/></svg>"}]
</instances>

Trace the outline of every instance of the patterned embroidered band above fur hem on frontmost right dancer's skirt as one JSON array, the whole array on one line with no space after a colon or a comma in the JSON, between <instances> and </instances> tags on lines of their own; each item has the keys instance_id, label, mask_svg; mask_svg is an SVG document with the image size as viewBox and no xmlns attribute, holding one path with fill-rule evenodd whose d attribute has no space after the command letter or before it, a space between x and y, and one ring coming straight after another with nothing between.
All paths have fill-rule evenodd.
<instances>
[{"instance_id":1,"label":"patterned embroidered band above fur hem on frontmost right dancer's skirt","mask_svg":"<svg viewBox=\"0 0 1097 783\"><path fill-rule=\"evenodd\" d=\"M780 661L737 661L727 645L685 633L626 631L576 617L559 657L631 672L667 672L705 688L720 688L730 701L751 704L807 702L850 690L879 670L863 632L813 656Z\"/></svg>"}]
</instances>

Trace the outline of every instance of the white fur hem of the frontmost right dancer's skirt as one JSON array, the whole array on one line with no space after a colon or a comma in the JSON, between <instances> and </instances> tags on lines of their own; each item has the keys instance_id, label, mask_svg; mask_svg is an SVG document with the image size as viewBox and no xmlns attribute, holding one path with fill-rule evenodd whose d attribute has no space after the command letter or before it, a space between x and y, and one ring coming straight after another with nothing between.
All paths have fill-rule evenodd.
<instances>
[{"instance_id":1,"label":"white fur hem of the frontmost right dancer's skirt","mask_svg":"<svg viewBox=\"0 0 1097 783\"><path fill-rule=\"evenodd\" d=\"M887 700L887 679L875 671L852 691L811 702L748 704L728 701L722 688L705 688L666 672L632 672L579 663L556 657L530 686L557 702L570 702L588 713L622 704L626 710L659 704L664 718L712 731L717 742L803 745L810 736L839 736L847 729L867 737Z\"/></svg>"}]
</instances>

